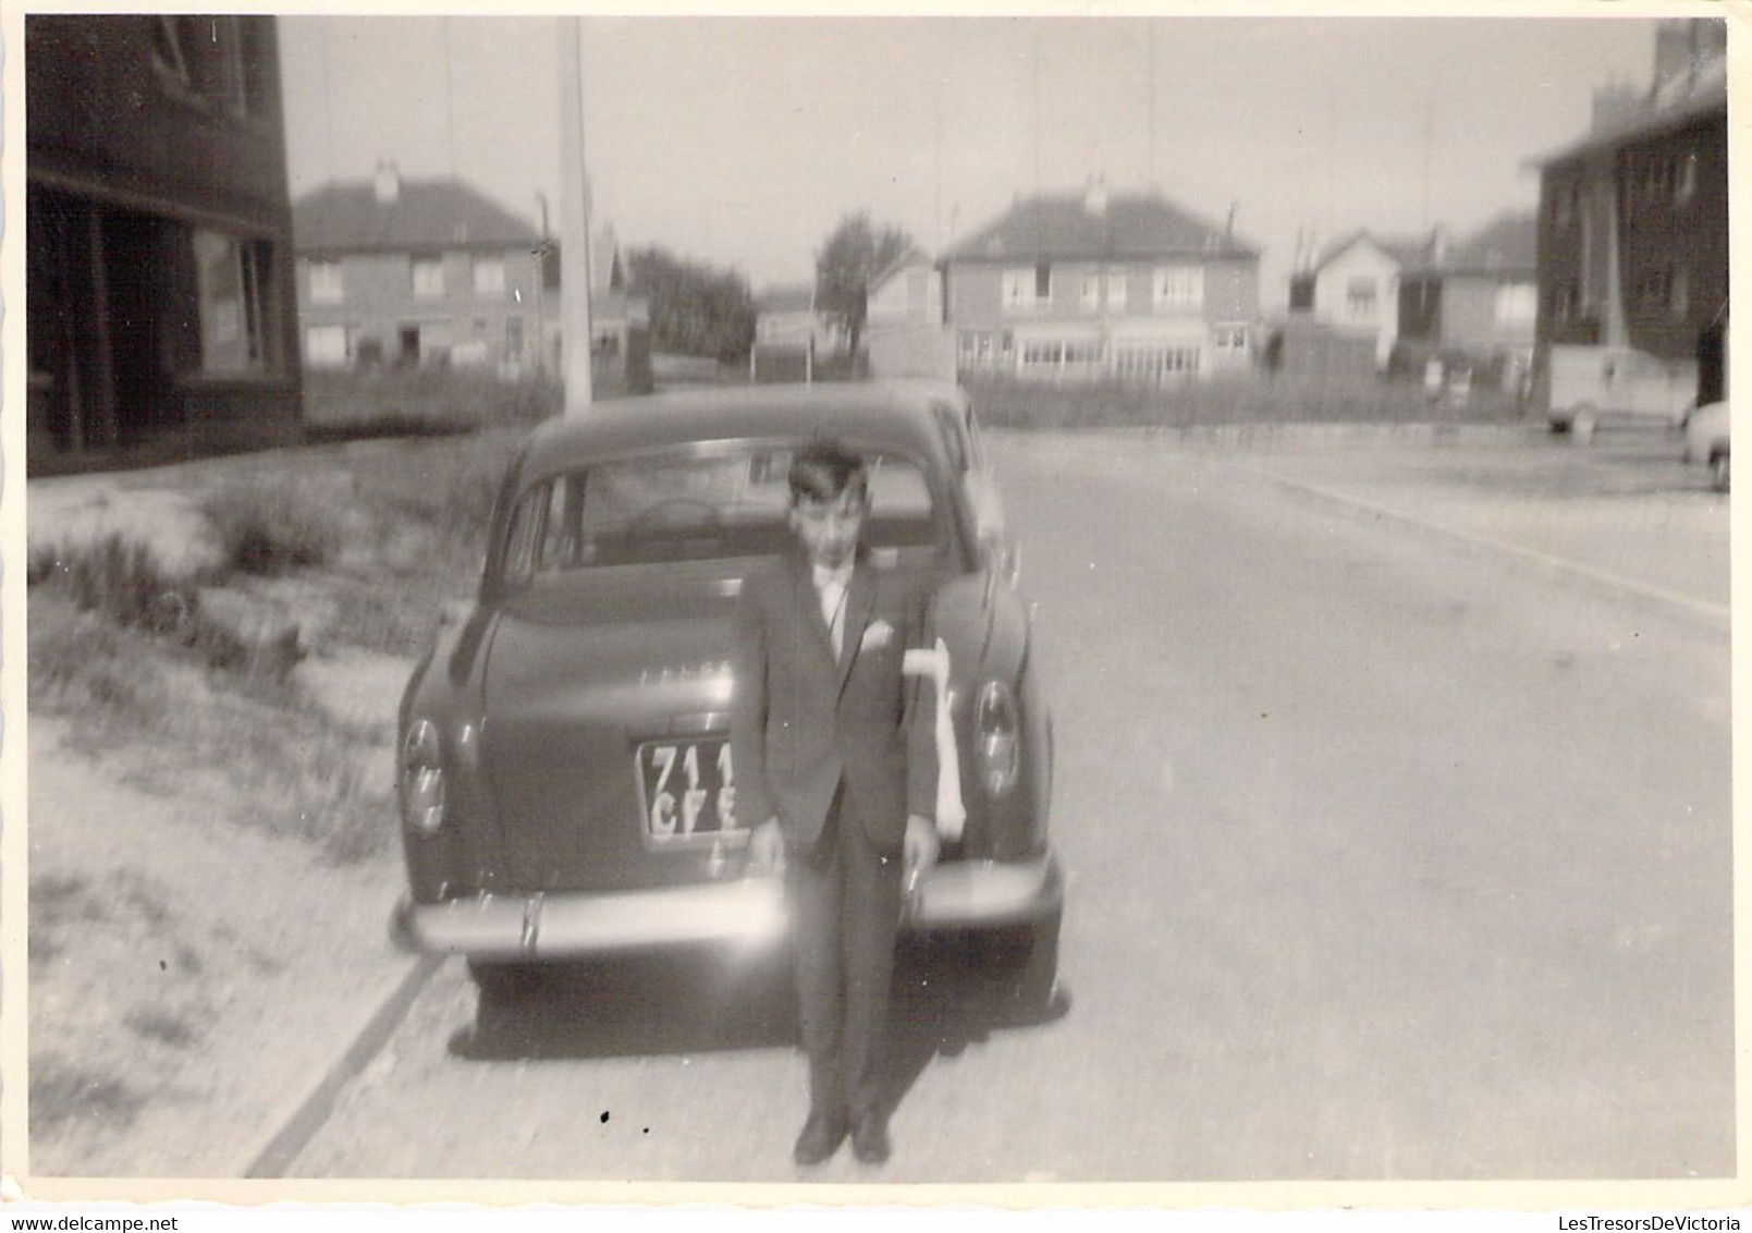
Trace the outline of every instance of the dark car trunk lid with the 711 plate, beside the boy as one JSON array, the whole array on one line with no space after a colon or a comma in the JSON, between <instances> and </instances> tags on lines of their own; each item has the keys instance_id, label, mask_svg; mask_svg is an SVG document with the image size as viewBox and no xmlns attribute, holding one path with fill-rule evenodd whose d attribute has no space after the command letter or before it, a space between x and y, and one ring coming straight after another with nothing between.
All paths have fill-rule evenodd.
<instances>
[{"instance_id":1,"label":"dark car trunk lid with the 711 plate, beside the boy","mask_svg":"<svg viewBox=\"0 0 1752 1233\"><path fill-rule=\"evenodd\" d=\"M631 573L533 588L494 634L484 750L520 888L668 886L741 869L729 762L741 573Z\"/></svg>"}]
</instances>

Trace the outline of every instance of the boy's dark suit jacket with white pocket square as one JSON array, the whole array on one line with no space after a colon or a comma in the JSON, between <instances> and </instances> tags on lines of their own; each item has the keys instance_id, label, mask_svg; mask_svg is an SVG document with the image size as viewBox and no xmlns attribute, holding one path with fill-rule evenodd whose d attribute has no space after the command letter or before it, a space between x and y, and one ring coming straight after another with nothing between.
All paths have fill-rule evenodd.
<instances>
[{"instance_id":1,"label":"boy's dark suit jacket with white pocket square","mask_svg":"<svg viewBox=\"0 0 1752 1233\"><path fill-rule=\"evenodd\" d=\"M934 701L920 699L918 678L901 674L906 648L923 646L929 602L925 580L878 569L860 548L836 662L808 555L797 548L750 574L736 615L731 704L745 825L778 816L787 846L808 851L841 776L881 851L901 849L908 814L932 818Z\"/></svg>"}]
</instances>

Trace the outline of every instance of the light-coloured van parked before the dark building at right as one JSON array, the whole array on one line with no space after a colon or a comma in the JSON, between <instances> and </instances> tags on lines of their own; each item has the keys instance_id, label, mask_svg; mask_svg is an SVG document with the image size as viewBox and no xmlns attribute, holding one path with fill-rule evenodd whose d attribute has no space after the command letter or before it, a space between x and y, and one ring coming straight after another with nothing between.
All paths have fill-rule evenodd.
<instances>
[{"instance_id":1,"label":"light-coloured van parked before the dark building at right","mask_svg":"<svg viewBox=\"0 0 1752 1233\"><path fill-rule=\"evenodd\" d=\"M1587 441L1601 424L1678 427L1698 401L1698 361L1661 359L1631 347L1551 349L1554 433Z\"/></svg>"}]
</instances>

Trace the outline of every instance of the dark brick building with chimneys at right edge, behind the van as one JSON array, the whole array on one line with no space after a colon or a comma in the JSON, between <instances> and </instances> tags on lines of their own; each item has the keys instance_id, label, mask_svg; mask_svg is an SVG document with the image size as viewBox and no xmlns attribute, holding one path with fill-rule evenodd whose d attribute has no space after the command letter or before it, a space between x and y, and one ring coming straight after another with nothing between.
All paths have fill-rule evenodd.
<instances>
[{"instance_id":1,"label":"dark brick building with chimneys at right edge, behind the van","mask_svg":"<svg viewBox=\"0 0 1752 1233\"><path fill-rule=\"evenodd\" d=\"M1663 21L1649 93L1594 103L1593 131L1533 163L1540 368L1552 347L1635 354L1691 371L1713 401L1727 329L1726 23Z\"/></svg>"}]
</instances>

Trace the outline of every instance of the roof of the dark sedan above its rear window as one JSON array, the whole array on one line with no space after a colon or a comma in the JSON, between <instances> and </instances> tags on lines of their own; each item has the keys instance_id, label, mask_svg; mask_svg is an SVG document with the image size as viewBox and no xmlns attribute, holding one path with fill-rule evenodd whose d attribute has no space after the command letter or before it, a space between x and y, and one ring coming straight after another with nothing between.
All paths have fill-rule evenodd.
<instances>
[{"instance_id":1,"label":"roof of the dark sedan above its rear window","mask_svg":"<svg viewBox=\"0 0 1752 1233\"><path fill-rule=\"evenodd\" d=\"M937 408L948 382L734 385L596 403L541 424L524 443L524 482L615 454L745 438L841 436L943 464Z\"/></svg>"}]
</instances>

